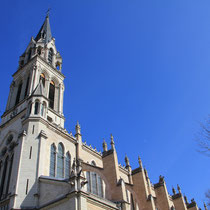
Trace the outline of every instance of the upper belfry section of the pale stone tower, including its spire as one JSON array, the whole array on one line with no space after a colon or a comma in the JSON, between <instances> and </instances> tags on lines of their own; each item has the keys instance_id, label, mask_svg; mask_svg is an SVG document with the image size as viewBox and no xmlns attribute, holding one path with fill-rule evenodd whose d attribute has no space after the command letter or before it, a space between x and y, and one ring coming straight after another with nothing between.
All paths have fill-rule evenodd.
<instances>
[{"instance_id":1,"label":"upper belfry section of the pale stone tower, including its spire","mask_svg":"<svg viewBox=\"0 0 210 210\"><path fill-rule=\"evenodd\" d=\"M26 115L38 115L64 127L64 75L62 58L52 37L49 15L36 38L30 40L13 74L2 124L27 109Z\"/></svg>"}]
</instances>

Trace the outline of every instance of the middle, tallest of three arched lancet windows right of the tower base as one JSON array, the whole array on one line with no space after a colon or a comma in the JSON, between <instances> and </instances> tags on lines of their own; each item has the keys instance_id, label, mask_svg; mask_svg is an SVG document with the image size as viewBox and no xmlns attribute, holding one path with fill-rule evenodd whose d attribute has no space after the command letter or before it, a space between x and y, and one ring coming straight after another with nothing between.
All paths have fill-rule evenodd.
<instances>
[{"instance_id":1,"label":"middle, tallest of three arched lancet windows right of the tower base","mask_svg":"<svg viewBox=\"0 0 210 210\"><path fill-rule=\"evenodd\" d=\"M58 155L57 155L57 177L64 177L64 148L61 143L58 144Z\"/></svg>"}]
</instances>

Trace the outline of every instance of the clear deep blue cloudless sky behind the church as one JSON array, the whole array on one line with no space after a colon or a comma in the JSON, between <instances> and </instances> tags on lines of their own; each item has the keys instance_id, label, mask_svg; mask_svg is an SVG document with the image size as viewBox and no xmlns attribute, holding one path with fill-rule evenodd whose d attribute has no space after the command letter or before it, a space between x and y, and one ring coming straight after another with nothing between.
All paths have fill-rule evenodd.
<instances>
[{"instance_id":1,"label":"clear deep blue cloudless sky behind the church","mask_svg":"<svg viewBox=\"0 0 210 210\"><path fill-rule=\"evenodd\" d=\"M65 127L102 150L112 133L118 161L138 155L152 183L165 177L203 209L210 158L197 152L210 114L210 1L8 0L1 2L0 114L12 74L50 11L63 58Z\"/></svg>"}]
</instances>

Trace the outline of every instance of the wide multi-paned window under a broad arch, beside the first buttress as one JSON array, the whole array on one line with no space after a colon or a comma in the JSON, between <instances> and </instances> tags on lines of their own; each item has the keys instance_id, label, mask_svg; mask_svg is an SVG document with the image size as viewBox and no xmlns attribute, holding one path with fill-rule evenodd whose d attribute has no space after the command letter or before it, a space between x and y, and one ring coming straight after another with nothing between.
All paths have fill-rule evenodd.
<instances>
[{"instance_id":1,"label":"wide multi-paned window under a broad arch, beside the first buttress","mask_svg":"<svg viewBox=\"0 0 210 210\"><path fill-rule=\"evenodd\" d=\"M86 176L88 181L87 191L100 197L103 197L103 182L101 177L97 173L92 171L87 171Z\"/></svg>"}]
</instances>

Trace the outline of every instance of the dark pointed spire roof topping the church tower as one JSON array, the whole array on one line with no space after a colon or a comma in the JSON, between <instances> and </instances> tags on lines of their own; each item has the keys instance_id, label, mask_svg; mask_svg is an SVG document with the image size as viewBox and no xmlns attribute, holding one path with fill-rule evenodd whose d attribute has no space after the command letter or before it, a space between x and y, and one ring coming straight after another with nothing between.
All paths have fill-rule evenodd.
<instances>
[{"instance_id":1,"label":"dark pointed spire roof topping the church tower","mask_svg":"<svg viewBox=\"0 0 210 210\"><path fill-rule=\"evenodd\" d=\"M35 41L39 41L42 39L42 41L47 44L49 41L52 40L52 34L50 29L50 21L49 21L49 14L47 14L45 21L42 25L42 27L39 30L39 33L37 34Z\"/></svg>"}]
</instances>

